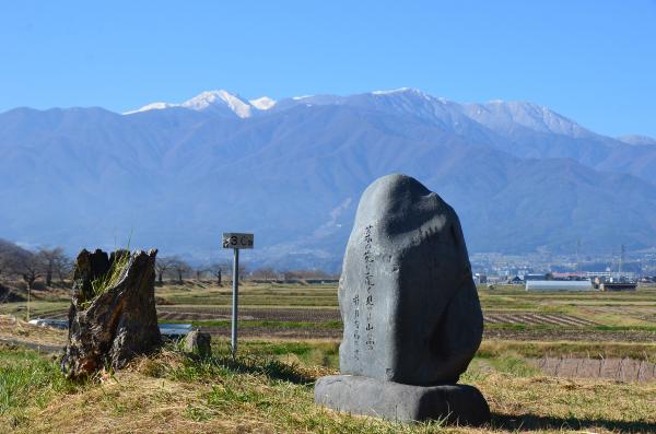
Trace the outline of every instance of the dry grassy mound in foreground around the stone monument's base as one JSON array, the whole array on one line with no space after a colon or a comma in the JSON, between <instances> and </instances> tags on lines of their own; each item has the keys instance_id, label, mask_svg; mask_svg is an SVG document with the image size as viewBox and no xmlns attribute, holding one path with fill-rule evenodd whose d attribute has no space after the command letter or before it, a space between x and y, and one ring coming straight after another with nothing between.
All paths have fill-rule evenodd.
<instances>
[{"instance_id":1,"label":"dry grassy mound in foreground around the stone monument's base","mask_svg":"<svg viewBox=\"0 0 656 434\"><path fill-rule=\"evenodd\" d=\"M12 363L12 362L9 362ZM656 383L562 379L507 360L477 360L465 376L488 398L491 426L399 425L313 403L312 382L330 372L245 356L196 360L165 351L131 368L52 391L0 415L16 433L78 432L648 432L656 427Z\"/></svg>"}]
</instances>

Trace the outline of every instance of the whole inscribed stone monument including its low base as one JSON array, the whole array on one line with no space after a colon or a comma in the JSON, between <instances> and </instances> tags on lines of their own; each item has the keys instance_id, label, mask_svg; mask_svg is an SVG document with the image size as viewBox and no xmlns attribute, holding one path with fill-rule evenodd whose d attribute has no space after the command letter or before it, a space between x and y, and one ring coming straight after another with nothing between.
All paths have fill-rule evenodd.
<instances>
[{"instance_id":1,"label":"whole inscribed stone monument including its low base","mask_svg":"<svg viewBox=\"0 0 656 434\"><path fill-rule=\"evenodd\" d=\"M489 421L481 392L456 384L483 316L460 222L440 196L398 174L364 191L339 305L341 375L317 380L317 403L399 421Z\"/></svg>"}]
</instances>

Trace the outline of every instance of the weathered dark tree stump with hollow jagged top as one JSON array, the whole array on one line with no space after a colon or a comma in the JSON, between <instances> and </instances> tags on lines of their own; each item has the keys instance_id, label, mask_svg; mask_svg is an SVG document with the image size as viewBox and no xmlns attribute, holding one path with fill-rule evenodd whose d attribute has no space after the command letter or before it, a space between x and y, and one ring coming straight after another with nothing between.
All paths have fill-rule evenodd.
<instances>
[{"instance_id":1,"label":"weathered dark tree stump with hollow jagged top","mask_svg":"<svg viewBox=\"0 0 656 434\"><path fill-rule=\"evenodd\" d=\"M121 368L162 342L155 309L157 250L82 250L73 274L61 370L70 378Z\"/></svg>"}]
</instances>

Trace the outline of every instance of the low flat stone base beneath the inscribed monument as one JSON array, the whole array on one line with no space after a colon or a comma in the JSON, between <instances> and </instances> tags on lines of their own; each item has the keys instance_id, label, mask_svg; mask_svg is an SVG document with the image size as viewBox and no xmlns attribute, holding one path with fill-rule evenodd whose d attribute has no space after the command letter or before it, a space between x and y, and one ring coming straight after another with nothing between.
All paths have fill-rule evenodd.
<instances>
[{"instance_id":1,"label":"low flat stone base beneath the inscribed monument","mask_svg":"<svg viewBox=\"0 0 656 434\"><path fill-rule=\"evenodd\" d=\"M485 398L468 385L410 386L358 375L330 375L317 380L315 402L400 422L436 419L460 425L490 422Z\"/></svg>"}]
</instances>

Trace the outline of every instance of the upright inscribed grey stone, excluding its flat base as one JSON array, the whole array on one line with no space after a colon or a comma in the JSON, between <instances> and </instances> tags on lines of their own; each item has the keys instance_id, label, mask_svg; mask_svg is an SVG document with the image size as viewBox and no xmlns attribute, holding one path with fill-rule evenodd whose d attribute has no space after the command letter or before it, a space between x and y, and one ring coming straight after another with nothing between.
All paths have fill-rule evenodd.
<instances>
[{"instance_id":1,"label":"upright inscribed grey stone, excluding its flat base","mask_svg":"<svg viewBox=\"0 0 656 434\"><path fill-rule=\"evenodd\" d=\"M483 332L456 212L409 176L374 181L358 207L339 304L342 374L455 384Z\"/></svg>"}]
</instances>

